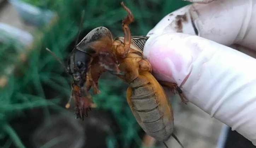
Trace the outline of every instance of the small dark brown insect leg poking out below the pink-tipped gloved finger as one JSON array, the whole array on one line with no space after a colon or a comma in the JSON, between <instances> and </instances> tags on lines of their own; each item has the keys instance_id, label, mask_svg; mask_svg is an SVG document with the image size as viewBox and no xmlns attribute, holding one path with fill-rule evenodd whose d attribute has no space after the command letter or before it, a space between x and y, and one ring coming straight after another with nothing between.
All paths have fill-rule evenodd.
<instances>
[{"instance_id":1,"label":"small dark brown insect leg poking out below the pink-tipped gloved finger","mask_svg":"<svg viewBox=\"0 0 256 148\"><path fill-rule=\"evenodd\" d=\"M162 86L170 88L170 91L175 94L175 91L178 92L180 99L183 103L187 104L188 100L184 97L184 94L182 93L181 89L176 83L173 82L167 82L167 81L158 81L159 84Z\"/></svg>"}]
</instances>

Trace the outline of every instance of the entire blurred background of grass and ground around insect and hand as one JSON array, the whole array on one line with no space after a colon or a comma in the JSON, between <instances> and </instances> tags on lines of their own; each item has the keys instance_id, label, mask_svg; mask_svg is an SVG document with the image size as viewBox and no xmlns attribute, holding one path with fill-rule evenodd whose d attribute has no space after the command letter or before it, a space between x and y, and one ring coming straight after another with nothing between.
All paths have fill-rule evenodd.
<instances>
[{"instance_id":1,"label":"entire blurred background of grass and ground around insect and hand","mask_svg":"<svg viewBox=\"0 0 256 148\"><path fill-rule=\"evenodd\" d=\"M126 102L127 84L108 73L99 81L97 107L76 119L71 77L45 48L66 63L79 41L98 26L123 36L126 12L120 0L0 0L1 148L161 148L145 135ZM146 35L168 13L188 5L179 0L124 0L133 12L132 35ZM254 147L251 142L191 103L170 98L174 133L186 148ZM242 139L242 140L241 140ZM171 138L169 148L179 148Z\"/></svg>"}]
</instances>

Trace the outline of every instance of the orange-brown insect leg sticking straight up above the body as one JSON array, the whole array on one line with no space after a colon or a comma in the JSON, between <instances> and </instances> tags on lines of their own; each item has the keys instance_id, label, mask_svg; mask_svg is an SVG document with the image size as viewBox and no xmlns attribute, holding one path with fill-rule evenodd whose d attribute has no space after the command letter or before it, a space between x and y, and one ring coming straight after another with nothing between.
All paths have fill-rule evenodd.
<instances>
[{"instance_id":1,"label":"orange-brown insect leg sticking straight up above the body","mask_svg":"<svg viewBox=\"0 0 256 148\"><path fill-rule=\"evenodd\" d=\"M123 2L121 2L121 5L123 6L124 10L126 10L126 12L128 13L127 16L123 19L122 24L122 29L124 32L124 52L122 57L125 58L129 52L131 43L131 33L128 25L133 22L134 17L132 12L123 4Z\"/></svg>"}]
</instances>

